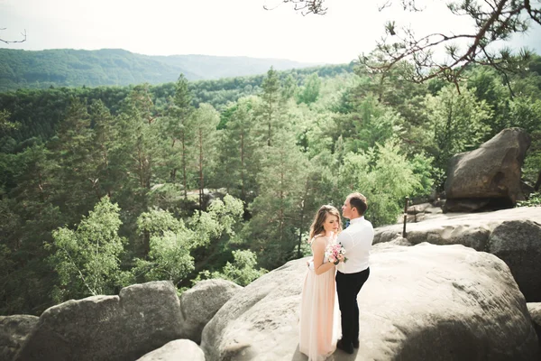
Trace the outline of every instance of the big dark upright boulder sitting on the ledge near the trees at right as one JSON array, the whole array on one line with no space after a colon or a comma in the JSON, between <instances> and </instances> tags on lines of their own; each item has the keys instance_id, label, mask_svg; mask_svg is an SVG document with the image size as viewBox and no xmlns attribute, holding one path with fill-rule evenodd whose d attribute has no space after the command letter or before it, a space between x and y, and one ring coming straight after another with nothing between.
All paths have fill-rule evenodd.
<instances>
[{"instance_id":1,"label":"big dark upright boulder sitting on the ledge near the trees at right","mask_svg":"<svg viewBox=\"0 0 541 361\"><path fill-rule=\"evenodd\" d=\"M520 168L530 143L524 130L509 128L472 152L456 154L445 180L445 210L509 208L524 199Z\"/></svg>"}]
</instances>

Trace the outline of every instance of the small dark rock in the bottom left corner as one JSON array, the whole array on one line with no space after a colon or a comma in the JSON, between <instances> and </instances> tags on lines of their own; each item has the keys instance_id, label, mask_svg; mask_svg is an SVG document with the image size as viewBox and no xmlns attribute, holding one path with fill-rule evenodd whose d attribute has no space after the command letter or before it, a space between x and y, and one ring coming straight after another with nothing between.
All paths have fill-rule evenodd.
<instances>
[{"instance_id":1,"label":"small dark rock in the bottom left corner","mask_svg":"<svg viewBox=\"0 0 541 361\"><path fill-rule=\"evenodd\" d=\"M12 360L38 323L30 315L0 316L0 360Z\"/></svg>"}]
</instances>

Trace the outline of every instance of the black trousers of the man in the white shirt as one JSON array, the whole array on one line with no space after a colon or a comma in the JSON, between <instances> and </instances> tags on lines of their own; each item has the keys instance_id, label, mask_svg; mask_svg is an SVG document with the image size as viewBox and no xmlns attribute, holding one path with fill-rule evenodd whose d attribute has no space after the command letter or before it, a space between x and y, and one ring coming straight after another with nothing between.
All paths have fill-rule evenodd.
<instances>
[{"instance_id":1,"label":"black trousers of the man in the white shirt","mask_svg":"<svg viewBox=\"0 0 541 361\"><path fill-rule=\"evenodd\" d=\"M359 273L336 273L336 292L342 313L342 339L353 342L359 339L359 305L357 294L370 275L370 268Z\"/></svg>"}]
</instances>

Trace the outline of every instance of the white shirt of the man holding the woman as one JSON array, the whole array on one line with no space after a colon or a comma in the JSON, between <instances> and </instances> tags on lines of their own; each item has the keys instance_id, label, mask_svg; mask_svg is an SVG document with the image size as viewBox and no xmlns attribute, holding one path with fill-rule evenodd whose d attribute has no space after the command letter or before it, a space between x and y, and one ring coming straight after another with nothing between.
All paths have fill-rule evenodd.
<instances>
[{"instance_id":1,"label":"white shirt of the man holding the woman","mask_svg":"<svg viewBox=\"0 0 541 361\"><path fill-rule=\"evenodd\" d=\"M338 235L337 242L345 249L347 262L337 265L341 273L358 273L368 268L374 228L364 217L353 218L349 227Z\"/></svg>"}]
</instances>

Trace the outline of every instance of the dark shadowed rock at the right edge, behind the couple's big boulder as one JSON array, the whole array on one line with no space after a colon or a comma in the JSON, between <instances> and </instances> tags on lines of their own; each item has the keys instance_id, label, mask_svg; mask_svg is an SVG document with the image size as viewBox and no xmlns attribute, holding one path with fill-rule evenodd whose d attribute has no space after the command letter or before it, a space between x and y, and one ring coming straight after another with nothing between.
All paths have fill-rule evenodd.
<instances>
[{"instance_id":1,"label":"dark shadowed rock at the right edge, behind the couple's big boulder","mask_svg":"<svg viewBox=\"0 0 541 361\"><path fill-rule=\"evenodd\" d=\"M528 302L541 301L541 224L503 222L491 232L487 250L509 265Z\"/></svg>"}]
</instances>

